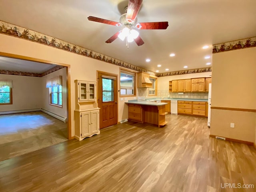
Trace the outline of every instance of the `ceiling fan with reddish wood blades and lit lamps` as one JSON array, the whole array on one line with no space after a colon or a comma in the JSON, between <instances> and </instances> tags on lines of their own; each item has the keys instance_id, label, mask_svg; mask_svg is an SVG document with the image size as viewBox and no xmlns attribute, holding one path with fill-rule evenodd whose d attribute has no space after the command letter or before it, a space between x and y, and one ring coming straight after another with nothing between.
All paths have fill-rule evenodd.
<instances>
[{"instance_id":1,"label":"ceiling fan with reddish wood blades and lit lamps","mask_svg":"<svg viewBox=\"0 0 256 192\"><path fill-rule=\"evenodd\" d=\"M144 41L139 36L139 32L135 29L166 29L168 27L168 22L142 22L137 23L137 14L142 5L142 0L129 0L127 11L125 14L119 19L119 22L110 21L102 18L97 18L93 16L89 16L88 20L105 23L114 26L122 26L124 27L122 30L116 32L112 37L106 40L106 43L112 43L117 38L124 40L126 38L126 46L128 46L129 42L135 41L138 46L144 44Z\"/></svg>"}]
</instances>

